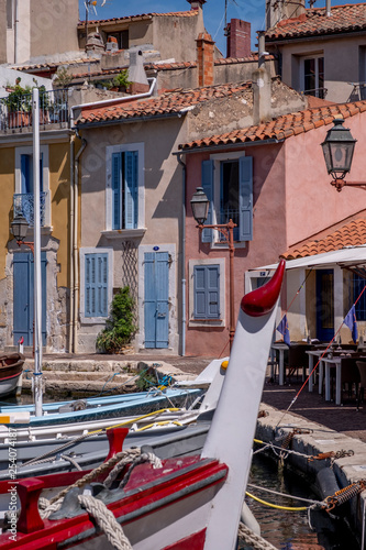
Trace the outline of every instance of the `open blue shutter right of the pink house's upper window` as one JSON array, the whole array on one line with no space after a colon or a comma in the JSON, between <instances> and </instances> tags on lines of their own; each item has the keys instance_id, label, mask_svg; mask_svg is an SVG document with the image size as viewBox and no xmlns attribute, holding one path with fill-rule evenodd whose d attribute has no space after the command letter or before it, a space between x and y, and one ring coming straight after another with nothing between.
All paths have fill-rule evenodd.
<instances>
[{"instance_id":1,"label":"open blue shutter right of the pink house's upper window","mask_svg":"<svg viewBox=\"0 0 366 550\"><path fill-rule=\"evenodd\" d=\"M240 241L253 239L253 157L239 160L239 238Z\"/></svg>"}]
</instances>

